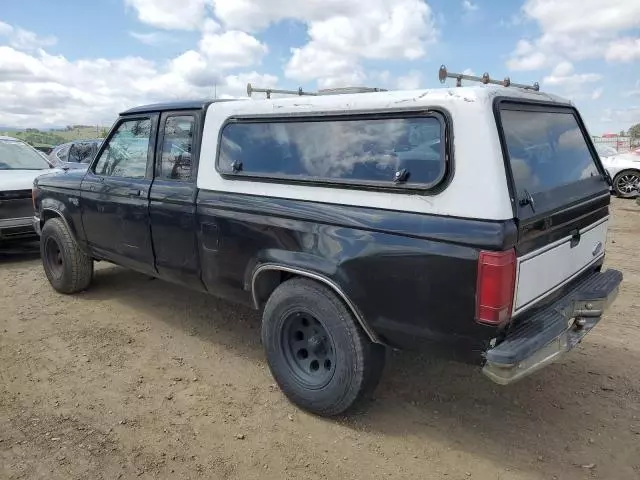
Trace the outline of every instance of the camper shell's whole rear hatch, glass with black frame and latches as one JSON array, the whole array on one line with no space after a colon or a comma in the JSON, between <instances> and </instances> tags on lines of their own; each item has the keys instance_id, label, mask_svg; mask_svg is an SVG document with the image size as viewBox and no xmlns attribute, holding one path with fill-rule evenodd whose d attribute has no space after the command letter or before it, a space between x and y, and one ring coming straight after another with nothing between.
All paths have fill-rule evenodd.
<instances>
[{"instance_id":1,"label":"camper shell's whole rear hatch, glass with black frame and latches","mask_svg":"<svg viewBox=\"0 0 640 480\"><path fill-rule=\"evenodd\" d=\"M553 210L608 188L573 108L498 105L520 216Z\"/></svg>"}]
</instances>

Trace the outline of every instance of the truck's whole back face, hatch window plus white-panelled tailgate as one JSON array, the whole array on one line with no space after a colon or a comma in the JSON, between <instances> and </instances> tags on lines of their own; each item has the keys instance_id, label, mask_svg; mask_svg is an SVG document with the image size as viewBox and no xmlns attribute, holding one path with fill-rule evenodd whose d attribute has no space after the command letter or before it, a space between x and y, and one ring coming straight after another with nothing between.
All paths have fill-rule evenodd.
<instances>
[{"instance_id":1,"label":"truck's whole back face, hatch window plus white-panelled tailgate","mask_svg":"<svg viewBox=\"0 0 640 480\"><path fill-rule=\"evenodd\" d=\"M499 126L518 225L515 316L602 260L610 195L575 108L503 102Z\"/></svg>"}]
</instances>

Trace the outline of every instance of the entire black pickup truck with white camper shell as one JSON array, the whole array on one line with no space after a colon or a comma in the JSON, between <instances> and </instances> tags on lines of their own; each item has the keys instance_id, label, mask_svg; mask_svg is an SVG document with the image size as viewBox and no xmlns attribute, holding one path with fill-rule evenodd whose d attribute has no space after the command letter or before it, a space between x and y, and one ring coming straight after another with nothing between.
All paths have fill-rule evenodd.
<instances>
[{"instance_id":1,"label":"entire black pickup truck with white camper shell","mask_svg":"<svg viewBox=\"0 0 640 480\"><path fill-rule=\"evenodd\" d=\"M39 177L34 225L59 292L105 260L261 310L282 391L336 415L387 347L510 384L579 343L622 281L607 179L571 102L522 88L179 102Z\"/></svg>"}]
</instances>

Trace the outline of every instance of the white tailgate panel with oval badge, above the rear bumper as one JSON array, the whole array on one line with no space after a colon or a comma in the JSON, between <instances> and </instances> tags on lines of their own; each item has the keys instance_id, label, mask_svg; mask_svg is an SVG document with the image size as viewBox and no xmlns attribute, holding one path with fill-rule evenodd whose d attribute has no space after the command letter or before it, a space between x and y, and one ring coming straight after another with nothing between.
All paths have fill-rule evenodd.
<instances>
[{"instance_id":1,"label":"white tailgate panel with oval badge, above the rear bumper","mask_svg":"<svg viewBox=\"0 0 640 480\"><path fill-rule=\"evenodd\" d=\"M518 258L513 314L573 280L603 256L609 218Z\"/></svg>"}]
</instances>

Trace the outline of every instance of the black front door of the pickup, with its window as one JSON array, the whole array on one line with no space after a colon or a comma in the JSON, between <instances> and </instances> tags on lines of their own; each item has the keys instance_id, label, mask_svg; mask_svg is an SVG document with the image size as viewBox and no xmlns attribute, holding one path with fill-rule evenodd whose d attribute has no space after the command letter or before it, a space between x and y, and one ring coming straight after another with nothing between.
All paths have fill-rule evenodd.
<instances>
[{"instance_id":1,"label":"black front door of the pickup, with its window","mask_svg":"<svg viewBox=\"0 0 640 480\"><path fill-rule=\"evenodd\" d=\"M95 255L154 273L149 221L158 115L124 117L81 185L82 223Z\"/></svg>"}]
</instances>

